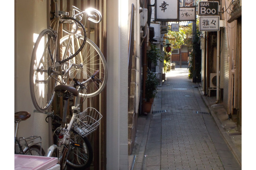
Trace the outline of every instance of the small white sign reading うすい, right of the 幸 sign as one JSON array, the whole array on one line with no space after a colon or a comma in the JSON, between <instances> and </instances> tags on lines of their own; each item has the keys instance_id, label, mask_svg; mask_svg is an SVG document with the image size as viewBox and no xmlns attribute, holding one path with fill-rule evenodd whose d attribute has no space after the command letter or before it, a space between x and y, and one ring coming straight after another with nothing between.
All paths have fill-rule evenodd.
<instances>
[{"instance_id":1,"label":"small white sign reading \u3046\u3059\u3044, right of the \u5e78 sign","mask_svg":"<svg viewBox=\"0 0 256 170\"><path fill-rule=\"evenodd\" d=\"M180 7L180 21L196 21L196 7Z\"/></svg>"}]
</instances>

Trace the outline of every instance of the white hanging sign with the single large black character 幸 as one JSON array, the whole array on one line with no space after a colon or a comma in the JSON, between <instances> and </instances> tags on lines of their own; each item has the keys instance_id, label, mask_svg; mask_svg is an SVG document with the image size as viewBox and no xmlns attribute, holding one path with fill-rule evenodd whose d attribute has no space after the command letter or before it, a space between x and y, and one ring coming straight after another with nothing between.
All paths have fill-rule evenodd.
<instances>
[{"instance_id":1,"label":"white hanging sign with the single large black character \u5e78","mask_svg":"<svg viewBox=\"0 0 256 170\"><path fill-rule=\"evenodd\" d=\"M155 21L179 21L179 0L156 0Z\"/></svg>"}]
</instances>

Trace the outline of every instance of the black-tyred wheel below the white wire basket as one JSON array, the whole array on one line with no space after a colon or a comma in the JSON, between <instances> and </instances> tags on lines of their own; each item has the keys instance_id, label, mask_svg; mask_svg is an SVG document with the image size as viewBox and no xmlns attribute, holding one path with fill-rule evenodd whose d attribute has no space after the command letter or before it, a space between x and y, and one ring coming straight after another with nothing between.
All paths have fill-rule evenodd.
<instances>
[{"instance_id":1,"label":"black-tyred wheel below the white wire basket","mask_svg":"<svg viewBox=\"0 0 256 170\"><path fill-rule=\"evenodd\" d=\"M71 149L68 152L66 165L77 170L84 170L90 167L93 158L93 150L87 137L71 131Z\"/></svg>"}]
</instances>

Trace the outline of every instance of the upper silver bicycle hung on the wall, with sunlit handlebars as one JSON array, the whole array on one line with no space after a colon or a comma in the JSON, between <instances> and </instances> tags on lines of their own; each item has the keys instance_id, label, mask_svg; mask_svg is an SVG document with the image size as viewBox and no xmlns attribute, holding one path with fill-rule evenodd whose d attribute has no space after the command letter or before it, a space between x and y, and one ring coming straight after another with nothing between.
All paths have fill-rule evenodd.
<instances>
[{"instance_id":1,"label":"upper silver bicycle hung on the wall, with sunlit handlebars","mask_svg":"<svg viewBox=\"0 0 256 170\"><path fill-rule=\"evenodd\" d=\"M83 81L99 69L98 81L88 86L87 96L93 97L102 91L107 79L106 60L98 47L86 38L86 30L80 22L85 15L98 23L102 20L100 12L93 8L81 11L73 6L72 17L62 17L68 13L59 15L57 2L54 0L56 12L52 24L39 34L30 63L30 93L39 112L50 107L57 83L66 84L70 77L71 81L74 77ZM66 36L60 39L60 32Z\"/></svg>"}]
</instances>

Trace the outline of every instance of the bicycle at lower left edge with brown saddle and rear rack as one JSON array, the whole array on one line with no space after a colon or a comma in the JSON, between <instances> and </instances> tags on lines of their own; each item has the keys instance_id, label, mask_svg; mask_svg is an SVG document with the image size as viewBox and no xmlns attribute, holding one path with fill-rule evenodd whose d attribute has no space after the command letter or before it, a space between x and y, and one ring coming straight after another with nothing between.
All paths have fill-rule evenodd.
<instances>
[{"instance_id":1,"label":"bicycle at lower left edge with brown saddle and rear rack","mask_svg":"<svg viewBox=\"0 0 256 170\"><path fill-rule=\"evenodd\" d=\"M26 121L30 118L30 113L20 111L14 113L14 122L16 124L14 134L14 154L44 156L45 152L42 149L42 138L40 136L30 136L27 138L18 138L18 128L21 121Z\"/></svg>"}]
</instances>

